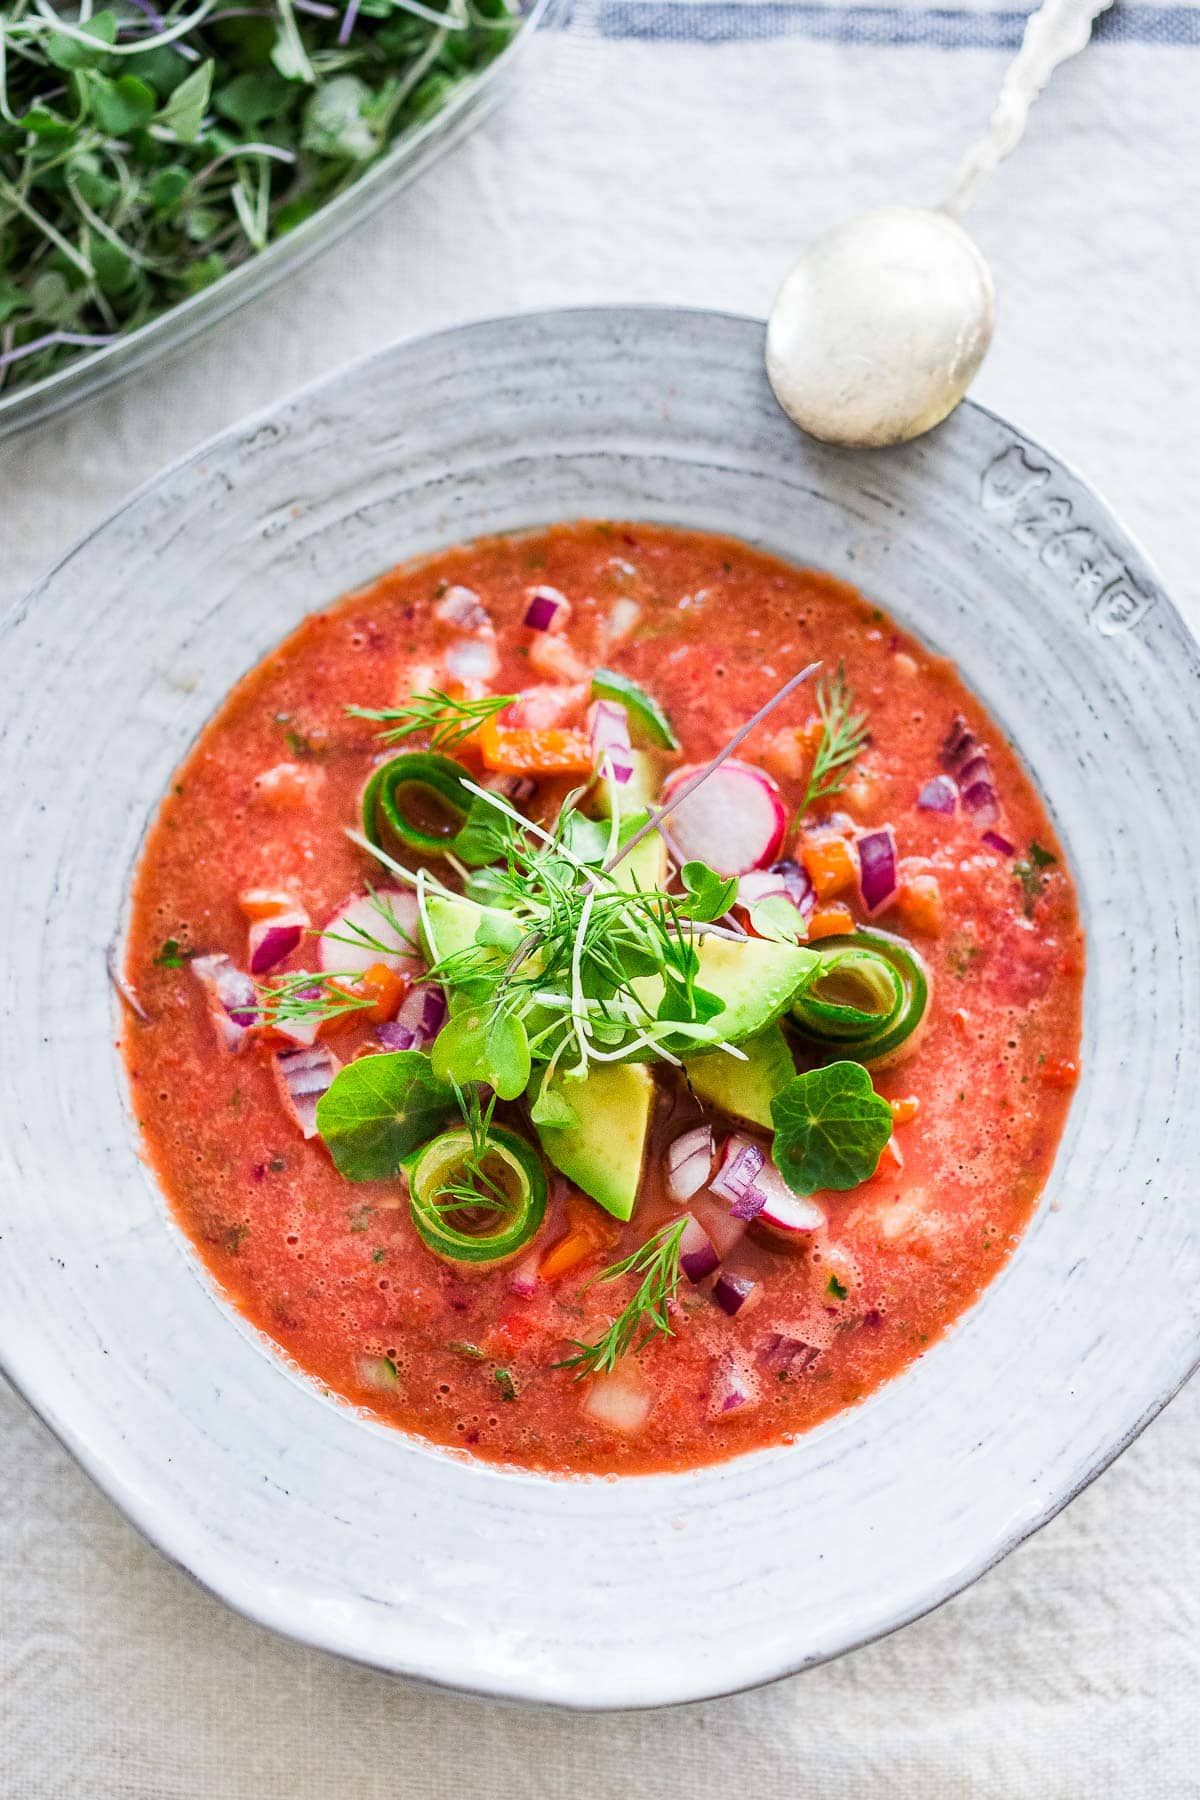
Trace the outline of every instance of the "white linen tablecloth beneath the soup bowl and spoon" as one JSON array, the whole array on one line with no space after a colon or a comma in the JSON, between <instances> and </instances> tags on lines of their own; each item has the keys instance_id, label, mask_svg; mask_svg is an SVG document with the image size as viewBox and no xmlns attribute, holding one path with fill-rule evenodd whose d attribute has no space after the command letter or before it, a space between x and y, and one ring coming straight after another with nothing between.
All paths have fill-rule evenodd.
<instances>
[{"instance_id":1,"label":"white linen tablecloth beneath the soup bowl and spoon","mask_svg":"<svg viewBox=\"0 0 1200 1800\"><path fill-rule=\"evenodd\" d=\"M396 335L597 301L765 313L820 227L941 196L1022 23L587 0L504 112L335 254L0 445L0 603L164 461ZM1000 286L977 396L1099 486L1193 626L1198 92L1200 9L1121 5L972 221ZM569 1717L394 1683L236 1618L0 1382L2 1800L1184 1800L1198 1696L1200 1386L898 1636L732 1701Z\"/></svg>"}]
</instances>

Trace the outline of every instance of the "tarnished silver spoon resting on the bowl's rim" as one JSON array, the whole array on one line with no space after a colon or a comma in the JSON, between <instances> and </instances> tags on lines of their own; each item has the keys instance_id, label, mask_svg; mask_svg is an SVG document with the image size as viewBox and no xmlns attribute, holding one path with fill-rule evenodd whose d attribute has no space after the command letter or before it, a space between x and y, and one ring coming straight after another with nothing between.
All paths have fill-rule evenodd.
<instances>
[{"instance_id":1,"label":"tarnished silver spoon resting on the bowl's rim","mask_svg":"<svg viewBox=\"0 0 1200 1800\"><path fill-rule=\"evenodd\" d=\"M880 207L819 238L775 295L766 374L779 405L826 443L905 443L954 412L991 344L995 288L959 225L1020 142L1051 74L1112 0L1043 0L1000 86L988 135L941 207Z\"/></svg>"}]
</instances>

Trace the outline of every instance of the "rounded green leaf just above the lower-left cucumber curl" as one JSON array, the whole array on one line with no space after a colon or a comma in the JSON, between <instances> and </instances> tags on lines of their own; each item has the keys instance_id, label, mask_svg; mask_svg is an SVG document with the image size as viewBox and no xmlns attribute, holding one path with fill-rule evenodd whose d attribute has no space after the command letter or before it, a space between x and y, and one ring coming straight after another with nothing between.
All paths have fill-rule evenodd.
<instances>
[{"instance_id":1,"label":"rounded green leaf just above the lower-left cucumber curl","mask_svg":"<svg viewBox=\"0 0 1200 1800\"><path fill-rule=\"evenodd\" d=\"M457 1111L419 1049L360 1057L317 1102L317 1130L347 1181L389 1181Z\"/></svg>"}]
</instances>

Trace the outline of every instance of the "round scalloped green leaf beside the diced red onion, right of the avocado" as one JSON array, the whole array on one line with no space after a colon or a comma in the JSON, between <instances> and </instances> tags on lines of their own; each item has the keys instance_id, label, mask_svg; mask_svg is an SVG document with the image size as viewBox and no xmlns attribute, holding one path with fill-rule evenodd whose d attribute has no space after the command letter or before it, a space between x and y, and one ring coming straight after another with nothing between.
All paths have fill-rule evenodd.
<instances>
[{"instance_id":1,"label":"round scalloped green leaf beside the diced red onion, right of the avocado","mask_svg":"<svg viewBox=\"0 0 1200 1800\"><path fill-rule=\"evenodd\" d=\"M795 1075L770 1111L775 1166L795 1193L869 1181L892 1134L892 1109L860 1062Z\"/></svg>"}]
</instances>

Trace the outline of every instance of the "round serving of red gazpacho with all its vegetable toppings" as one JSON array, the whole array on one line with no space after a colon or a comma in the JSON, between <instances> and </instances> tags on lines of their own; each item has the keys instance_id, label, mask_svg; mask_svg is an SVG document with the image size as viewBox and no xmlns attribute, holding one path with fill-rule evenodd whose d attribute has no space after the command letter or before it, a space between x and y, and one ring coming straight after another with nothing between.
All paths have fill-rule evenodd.
<instances>
[{"instance_id":1,"label":"round serving of red gazpacho with all its vegetable toppings","mask_svg":"<svg viewBox=\"0 0 1200 1800\"><path fill-rule=\"evenodd\" d=\"M551 1472L790 1440L1007 1258L1083 938L1013 749L840 581L576 524L234 689L137 875L146 1154L326 1390Z\"/></svg>"}]
</instances>

